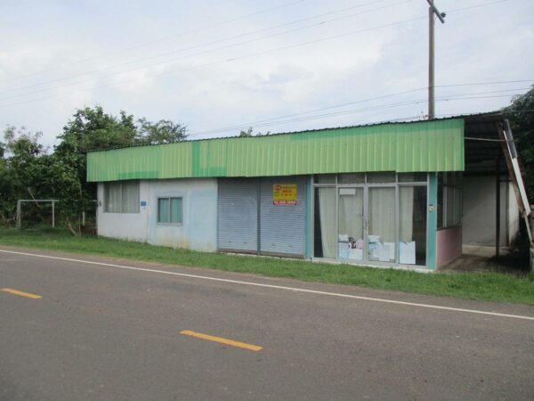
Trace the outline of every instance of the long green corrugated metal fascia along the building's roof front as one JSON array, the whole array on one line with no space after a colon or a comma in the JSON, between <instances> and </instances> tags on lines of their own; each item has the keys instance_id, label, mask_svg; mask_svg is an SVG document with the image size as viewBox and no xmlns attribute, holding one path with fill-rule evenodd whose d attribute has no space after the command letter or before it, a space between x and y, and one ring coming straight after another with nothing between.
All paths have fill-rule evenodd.
<instances>
[{"instance_id":1,"label":"long green corrugated metal fascia along the building's roof front","mask_svg":"<svg viewBox=\"0 0 534 401\"><path fill-rule=\"evenodd\" d=\"M94 151L87 180L464 170L464 120L344 127Z\"/></svg>"}]
</instances>

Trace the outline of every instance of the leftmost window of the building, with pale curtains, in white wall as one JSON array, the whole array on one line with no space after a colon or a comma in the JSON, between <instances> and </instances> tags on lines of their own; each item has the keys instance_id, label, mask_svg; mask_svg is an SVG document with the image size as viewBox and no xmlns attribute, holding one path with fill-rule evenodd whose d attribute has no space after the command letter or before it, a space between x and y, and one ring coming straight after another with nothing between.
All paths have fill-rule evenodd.
<instances>
[{"instance_id":1,"label":"leftmost window of the building, with pale curtains, in white wall","mask_svg":"<svg viewBox=\"0 0 534 401\"><path fill-rule=\"evenodd\" d=\"M109 213L139 213L139 181L105 183L104 211Z\"/></svg>"}]
</instances>

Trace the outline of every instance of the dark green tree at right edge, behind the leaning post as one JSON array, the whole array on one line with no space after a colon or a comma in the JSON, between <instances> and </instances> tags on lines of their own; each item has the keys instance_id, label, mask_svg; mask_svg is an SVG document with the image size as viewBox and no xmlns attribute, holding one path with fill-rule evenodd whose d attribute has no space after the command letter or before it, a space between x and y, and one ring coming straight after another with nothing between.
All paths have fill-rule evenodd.
<instances>
[{"instance_id":1,"label":"dark green tree at right edge, behind the leaning post","mask_svg":"<svg viewBox=\"0 0 534 401\"><path fill-rule=\"evenodd\" d=\"M503 110L514 133L529 199L534 199L534 86L526 94L515 96Z\"/></svg>"}]
</instances>

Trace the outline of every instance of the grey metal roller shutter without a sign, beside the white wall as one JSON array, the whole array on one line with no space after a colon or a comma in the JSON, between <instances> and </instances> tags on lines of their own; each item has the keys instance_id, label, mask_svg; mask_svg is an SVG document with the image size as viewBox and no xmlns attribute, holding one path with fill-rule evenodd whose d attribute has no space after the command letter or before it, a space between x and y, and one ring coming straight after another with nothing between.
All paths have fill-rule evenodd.
<instances>
[{"instance_id":1,"label":"grey metal roller shutter without a sign, beside the white wall","mask_svg":"<svg viewBox=\"0 0 534 401\"><path fill-rule=\"evenodd\" d=\"M258 180L220 179L218 187L218 249L257 252Z\"/></svg>"}]
</instances>

